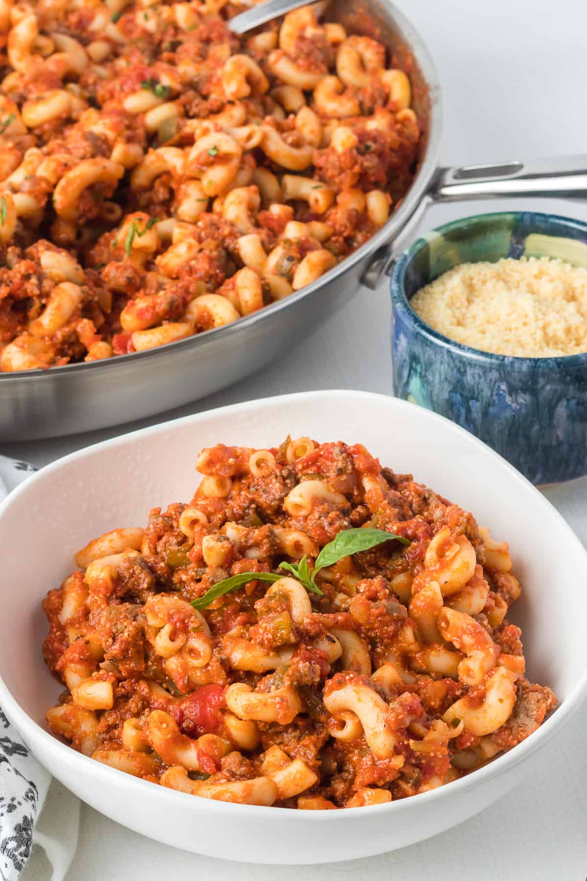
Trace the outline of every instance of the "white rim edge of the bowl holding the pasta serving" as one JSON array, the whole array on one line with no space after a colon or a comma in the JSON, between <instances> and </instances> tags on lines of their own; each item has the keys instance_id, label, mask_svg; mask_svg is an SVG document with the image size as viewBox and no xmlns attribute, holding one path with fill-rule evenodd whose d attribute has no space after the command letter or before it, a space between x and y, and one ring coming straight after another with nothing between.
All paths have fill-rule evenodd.
<instances>
[{"instance_id":1,"label":"white rim edge of the bowl holding the pasta serving","mask_svg":"<svg viewBox=\"0 0 587 881\"><path fill-rule=\"evenodd\" d=\"M272 396L268 398L259 398L253 401L246 401L236 404L229 404L223 407L217 407L214 410L203 411L201 413L194 413L189 416L185 416L178 419L170 419L165 422L159 423L155 426L148 426L146 428L138 429L134 432L128 432L126 434L118 435L117 437L110 438L106 441L99 441L98 443L92 444L89 447L85 447L79 449L69 455L62 456L59 459L56 459L55 462L49 463L45 465L43 468L38 470L36 473L31 475L30 478L27 478L26 481L18 485L12 492L10 492L6 498L0 503L0 519L6 515L8 509L10 509L13 500L18 498L21 494L28 492L29 488L33 486L38 481L44 480L47 475L52 474L54 471L61 470L63 466L74 462L83 460L86 458L92 458L93 455L99 454L99 452L106 448L116 448L122 445L127 444L136 439L137 437L148 437L150 434L156 433L165 433L170 430L180 429L181 426L186 426L188 424L197 424L201 422L205 422L208 418L216 416L216 414L220 413L242 413L242 412L252 412L259 411L264 408L270 409L278 403L290 403L291 405L296 405L298 403L305 403L309 400L320 400L324 397L332 398L333 396L339 398L342 402L350 403L354 400L371 400L373 402L389 406L393 408L397 408L401 411L411 411L413 407L417 406L417 404L409 403L407 401L400 400L400 398L382 395L377 392L368 392L362 391L359 389L322 389L317 391L310 392L296 392L289 395L279 395ZM429 419L433 424L444 424L445 427L448 427L453 433L462 435L466 438L466 441L473 445L474 448L479 448L484 451L484 455L490 455L491 457L499 460L501 464L501 468L507 471L510 474L510 478L514 479L518 484L524 485L527 492L530 492L535 504L538 507L542 507L549 512L550 516L555 517L560 523L561 527L567 532L567 540L570 544L574 545L576 550L580 552L585 557L585 562L587 563L587 549L583 546L583 543L576 536L576 533L570 527L569 522L565 520L565 518L560 514L559 511L549 502L545 496L542 495L539 490L532 485L532 483L527 480L519 471L517 471L510 463L508 463L503 456L495 453L495 450L489 448L487 444L484 444L478 438L474 437L473 434L467 432L464 428L456 425L451 422L450 419L444 418L444 416L440 416L437 413L432 411L428 411L425 408L418 408L422 414L424 414L425 419ZM499 756L496 759L488 762L487 765L482 766L476 771L473 771L471 774L466 774L464 777L460 777L459 780L451 781L451 783L444 784L444 786L440 786L436 789L432 789L429 792L420 793L418 796L412 796L406 799L399 799L398 801L388 802L384 804L375 804L368 805L361 809L361 816L368 817L375 814L384 814L389 813L390 816L397 811L406 811L406 810L414 810L418 804L421 804L422 807L425 803L434 803L438 799L442 799L443 797L450 795L459 796L459 793L466 792L469 789L478 788L483 783L493 780L495 777L501 774L506 774L508 771L513 770L515 767L519 766L525 759L530 759L536 752L539 751L547 742L554 737L554 734L559 731L571 718L573 714L583 705L583 703L587 700L587 663L585 663L585 668L583 670L583 674L579 678L573 690L570 694L561 701L560 705L555 708L554 712L547 718L545 722L543 722L539 729L536 729L532 732L532 734L527 737L520 744L517 744L515 748L512 748L510 751L503 753L503 755ZM139 778L132 776L131 774L125 774L124 781L121 778L121 772L115 770L114 768L108 767L101 762L96 761L95 759L91 759L88 756L84 756L82 753L73 750L69 744L65 744L62 741L58 740L54 735L50 734L48 730L44 729L38 722L35 722L33 718L26 713L26 711L20 707L18 700L12 695L11 691L8 689L7 685L4 683L4 678L0 673L0 707L4 709L4 712L8 715L9 719L15 725L15 728L18 730L18 733L25 740L25 743L29 749L31 747L29 744L40 743L43 744L43 749L51 754L52 761L55 761L55 765L62 765L63 763L71 763L71 769L74 770L77 768L77 773L83 778L92 778L94 780L101 780L102 782L108 784L110 783L113 788L117 786L124 785L125 788L131 788L136 796L138 797L150 797L155 796L155 790L152 788L152 784L149 781L143 781ZM31 749L33 755L35 752ZM35 756L36 758L36 756ZM37 759L40 761L40 759ZM42 764L42 762L41 762ZM448 788L448 789L447 789ZM168 789L165 787L158 787L157 797L161 799L161 804L165 805L165 803L177 803L183 806L184 809L187 809L187 805L191 805L191 810L194 810L196 813L199 810L205 811L216 811L218 815L220 814L228 814L229 817L238 818L238 817L248 817L248 818L272 818L278 820L279 822L325 822L325 821L334 821L334 822L347 822L350 821L353 817L356 817L355 811L352 810L339 810L339 811L297 811L297 810L284 810L282 808L275 807L260 807L257 805L250 804L234 804L227 802L216 802L212 799L199 799L194 798L194 796L190 796L187 793L179 792L175 789ZM179 803L177 800L180 800ZM415 801L416 799L416 801ZM84 800L84 799L82 799ZM166 800L166 801L165 801ZM426 800L426 802L424 802ZM253 811L253 813L252 813ZM308 814L311 817L308 817Z\"/></svg>"}]
</instances>

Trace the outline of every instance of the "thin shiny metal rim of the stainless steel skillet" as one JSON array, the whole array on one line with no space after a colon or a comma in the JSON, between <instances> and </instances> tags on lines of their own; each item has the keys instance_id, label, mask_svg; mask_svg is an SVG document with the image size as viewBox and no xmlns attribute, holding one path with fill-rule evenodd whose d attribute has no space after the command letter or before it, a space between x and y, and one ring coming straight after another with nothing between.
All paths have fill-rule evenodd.
<instances>
[{"instance_id":1,"label":"thin shiny metal rim of the stainless steel skillet","mask_svg":"<svg viewBox=\"0 0 587 881\"><path fill-rule=\"evenodd\" d=\"M357 263L360 263L370 256L372 257L379 248L388 244L389 241L393 241L393 238L401 232L404 226L407 225L415 208L417 208L418 204L420 204L422 199L425 198L432 175L437 169L438 155L440 152L444 127L444 100L440 80L438 78L437 66L428 48L428 43L421 36L420 32L416 30L415 25L412 24L411 20L407 18L404 12L401 11L392 0L385 0L384 6L390 19L393 21L393 25L397 27L406 41L407 47L415 58L416 65L422 70L422 78L428 88L430 113L428 126L425 130L425 138L423 139L422 152L416 162L412 185L408 189L398 210L390 215L385 221L385 224L378 229L374 235L365 241L360 248L357 248L356 251L353 251L351 254L347 255L344 260L341 260L340 263L333 266L331 270L328 270L324 275L313 281L311 285L305 285L305 287L301 288L299 291L294 291L287 297L283 297L282 300L275 300L273 303L269 303L268 306L259 309L257 312L253 312L251 315L243 315L238 318L237 321L231 322L230 324L224 324L218 328L204 330L201 333L192 334L190 337L174 340L172 343L159 345L154 349L145 349L140 352L128 352L125 355L111 355L109 358L99 359L97 361L77 361L74 364L53 366L47 370L15 370L10 373L0 372L0 383L10 382L11 380L15 381L16 379L26 382L47 381L49 376L77 374L80 371L84 374L88 374L92 370L99 370L100 367L104 369L106 366L112 366L113 363L126 364L128 366L130 359L132 359L130 361L131 364L138 364L141 359L145 358L150 358L152 361L155 361L157 358L165 357L165 355L169 355L180 349L188 350L196 346L206 345L217 337L231 337L238 334L241 330L246 331L259 322L262 322L265 315L276 315L283 309L287 309L290 304L298 302L299 300L304 300L306 297L312 297L312 295L315 295L319 290L320 285L334 282L336 278L339 278L348 270L352 270ZM360 286L361 284L359 281L357 287Z\"/></svg>"}]
</instances>

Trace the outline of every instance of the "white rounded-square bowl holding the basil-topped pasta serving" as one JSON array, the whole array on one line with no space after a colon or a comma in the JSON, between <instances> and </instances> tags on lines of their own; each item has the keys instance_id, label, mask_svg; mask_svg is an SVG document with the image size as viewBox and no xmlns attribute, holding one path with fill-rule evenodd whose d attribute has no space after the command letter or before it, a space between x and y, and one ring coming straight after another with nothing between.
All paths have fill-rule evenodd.
<instances>
[{"instance_id":1,"label":"white rounded-square bowl holding the basil-topped pasta serving","mask_svg":"<svg viewBox=\"0 0 587 881\"><path fill-rule=\"evenodd\" d=\"M524 743L479 771L421 796L349 811L287 811L212 802L153 786L87 759L52 737L44 716L62 690L40 651L40 601L74 568L73 554L150 507L187 501L202 447L268 447L292 437L361 442L381 462L469 508L510 542L525 591L511 619L523 628L528 677L560 706ZM105 441L48 465L0 507L4 570L0 706L51 774L136 832L199 854L246 862L334 862L402 848L443 832L528 774L587 694L578 583L587 553L547 500L481 441L447 419L391 397L320 391L241 403ZM515 813L514 801L510 811Z\"/></svg>"}]
</instances>

